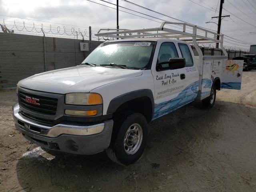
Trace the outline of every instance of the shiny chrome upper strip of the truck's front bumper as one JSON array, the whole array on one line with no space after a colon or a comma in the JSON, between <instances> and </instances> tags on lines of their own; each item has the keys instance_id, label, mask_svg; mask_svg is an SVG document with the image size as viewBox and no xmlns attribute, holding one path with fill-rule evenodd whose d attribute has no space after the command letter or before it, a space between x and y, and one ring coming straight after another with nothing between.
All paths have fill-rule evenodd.
<instances>
[{"instance_id":1,"label":"shiny chrome upper strip of the truck's front bumper","mask_svg":"<svg viewBox=\"0 0 256 192\"><path fill-rule=\"evenodd\" d=\"M105 123L100 123L92 126L76 126L68 124L57 124L55 126L44 126L23 118L20 114L20 106L16 104L12 107L13 118L16 125L35 134L40 134L47 137L58 137L61 134L88 136L101 133L104 130Z\"/></svg>"}]
</instances>

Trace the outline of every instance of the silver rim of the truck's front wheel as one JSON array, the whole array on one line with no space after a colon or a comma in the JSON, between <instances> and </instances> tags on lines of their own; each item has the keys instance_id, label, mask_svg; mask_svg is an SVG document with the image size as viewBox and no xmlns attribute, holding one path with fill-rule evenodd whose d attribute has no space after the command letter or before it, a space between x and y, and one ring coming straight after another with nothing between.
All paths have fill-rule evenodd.
<instances>
[{"instance_id":1,"label":"silver rim of the truck's front wheel","mask_svg":"<svg viewBox=\"0 0 256 192\"><path fill-rule=\"evenodd\" d=\"M138 151L142 143L143 132L139 124L132 124L124 136L124 150L128 155Z\"/></svg>"}]
</instances>

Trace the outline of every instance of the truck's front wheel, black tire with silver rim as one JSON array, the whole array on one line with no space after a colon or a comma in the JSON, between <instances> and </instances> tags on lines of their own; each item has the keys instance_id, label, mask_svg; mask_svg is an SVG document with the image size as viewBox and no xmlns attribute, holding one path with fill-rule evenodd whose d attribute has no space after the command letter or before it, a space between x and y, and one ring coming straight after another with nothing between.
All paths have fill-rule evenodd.
<instances>
[{"instance_id":1,"label":"truck's front wheel, black tire with silver rim","mask_svg":"<svg viewBox=\"0 0 256 192\"><path fill-rule=\"evenodd\" d=\"M146 118L140 113L127 112L114 119L112 141L106 153L117 164L132 164L142 156L147 137Z\"/></svg>"}]
</instances>

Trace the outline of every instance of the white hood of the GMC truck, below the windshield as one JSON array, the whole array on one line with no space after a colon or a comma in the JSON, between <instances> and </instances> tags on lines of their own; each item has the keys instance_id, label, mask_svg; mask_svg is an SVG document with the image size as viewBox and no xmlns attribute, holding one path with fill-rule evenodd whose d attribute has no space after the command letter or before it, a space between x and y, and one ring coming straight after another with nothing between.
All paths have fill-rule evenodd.
<instances>
[{"instance_id":1,"label":"white hood of the GMC truck, below the windshield","mask_svg":"<svg viewBox=\"0 0 256 192\"><path fill-rule=\"evenodd\" d=\"M18 85L32 90L66 94L90 92L99 86L140 75L141 70L75 66L36 74L21 80Z\"/></svg>"}]
</instances>

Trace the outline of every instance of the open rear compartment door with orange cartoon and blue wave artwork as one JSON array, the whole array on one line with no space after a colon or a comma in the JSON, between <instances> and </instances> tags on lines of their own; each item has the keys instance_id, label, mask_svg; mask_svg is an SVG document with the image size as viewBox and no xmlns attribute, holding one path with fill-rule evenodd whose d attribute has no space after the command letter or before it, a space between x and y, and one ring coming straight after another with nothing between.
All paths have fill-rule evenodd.
<instances>
[{"instance_id":1,"label":"open rear compartment door with orange cartoon and blue wave artwork","mask_svg":"<svg viewBox=\"0 0 256 192\"><path fill-rule=\"evenodd\" d=\"M222 65L220 87L224 89L241 89L244 60L226 60Z\"/></svg>"}]
</instances>

